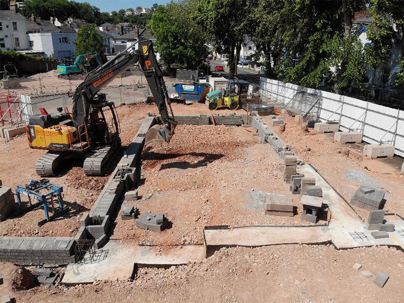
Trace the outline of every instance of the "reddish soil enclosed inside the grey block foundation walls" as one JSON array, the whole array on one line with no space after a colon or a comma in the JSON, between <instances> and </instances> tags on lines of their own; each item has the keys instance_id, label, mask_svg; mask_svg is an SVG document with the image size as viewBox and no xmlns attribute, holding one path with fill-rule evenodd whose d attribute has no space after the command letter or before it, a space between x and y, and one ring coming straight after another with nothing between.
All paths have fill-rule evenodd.
<instances>
[{"instance_id":1,"label":"reddish soil enclosed inside the grey block foundation walls","mask_svg":"<svg viewBox=\"0 0 404 303\"><path fill-rule=\"evenodd\" d=\"M163 212L169 228L161 233L121 220L112 239L135 244L202 244L210 225L312 225L294 217L265 215L265 194L289 196L301 213L298 196L283 181L283 162L251 128L179 125L169 144L155 145L142 156L135 203L140 214ZM122 209L128 203L122 204ZM320 224L326 222L321 221Z\"/></svg>"}]
</instances>

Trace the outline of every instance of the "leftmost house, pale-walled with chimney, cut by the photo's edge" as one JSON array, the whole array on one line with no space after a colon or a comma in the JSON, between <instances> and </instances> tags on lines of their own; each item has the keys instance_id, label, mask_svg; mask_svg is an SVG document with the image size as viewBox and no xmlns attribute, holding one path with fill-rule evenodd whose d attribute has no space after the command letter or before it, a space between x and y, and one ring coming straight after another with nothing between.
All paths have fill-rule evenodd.
<instances>
[{"instance_id":1,"label":"leftmost house, pale-walled with chimney, cut by the photo's edge","mask_svg":"<svg viewBox=\"0 0 404 303\"><path fill-rule=\"evenodd\" d=\"M15 6L10 6L10 11L0 11L0 49L28 49L27 23L23 15L16 13Z\"/></svg>"}]
</instances>

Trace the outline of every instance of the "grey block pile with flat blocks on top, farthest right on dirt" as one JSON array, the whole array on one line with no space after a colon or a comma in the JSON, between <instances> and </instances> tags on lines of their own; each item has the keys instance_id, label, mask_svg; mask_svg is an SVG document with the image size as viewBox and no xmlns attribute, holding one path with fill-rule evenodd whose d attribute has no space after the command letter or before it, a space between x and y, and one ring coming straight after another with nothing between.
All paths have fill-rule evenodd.
<instances>
[{"instance_id":1,"label":"grey block pile with flat blocks on top, farthest right on dirt","mask_svg":"<svg viewBox=\"0 0 404 303\"><path fill-rule=\"evenodd\" d=\"M369 185L362 185L351 198L350 203L369 211L382 208L385 191Z\"/></svg>"}]
</instances>

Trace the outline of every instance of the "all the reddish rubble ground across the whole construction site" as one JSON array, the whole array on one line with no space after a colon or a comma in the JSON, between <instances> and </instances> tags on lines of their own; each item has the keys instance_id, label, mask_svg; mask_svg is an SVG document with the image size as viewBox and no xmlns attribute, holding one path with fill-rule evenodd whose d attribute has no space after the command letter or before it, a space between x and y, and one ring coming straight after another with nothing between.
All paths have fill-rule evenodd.
<instances>
[{"instance_id":1,"label":"all the reddish rubble ground across the whole construction site","mask_svg":"<svg viewBox=\"0 0 404 303\"><path fill-rule=\"evenodd\" d=\"M173 104L175 114L212 114L203 104ZM155 105L118 107L123 146L133 139L147 113L157 114ZM220 110L214 114L230 114ZM245 114L243 110L236 114ZM274 130L306 163L346 199L364 183L386 190L387 212L404 215L404 178L401 160L362 160L361 145L332 142L329 134L306 132L291 117L285 117L284 132ZM264 121L268 122L265 117ZM0 144L0 178L12 187L38 179L34 166L45 153L28 147L24 135ZM402 162L402 161L401 161ZM365 168L366 167L366 168ZM116 218L111 238L128 245L164 246L202 244L205 226L311 225L300 216L264 215L264 192L293 198L282 180L283 162L269 144L260 144L252 128L225 126L178 126L170 144L157 145L142 157L137 202L140 213L163 212L172 223L162 233L146 232L134 221ZM105 177L87 177L79 166L68 165L60 176L49 178L63 185L65 200L73 212L42 227L43 210L0 223L8 236L74 236L82 213L93 206L107 182ZM123 205L124 206L124 205ZM369 211L354 206L367 219ZM322 222L318 223L321 224ZM181 247L181 246L180 246ZM369 270L365 278L352 269L355 263ZM112 265L113 266L113 265ZM102 281L69 287L56 285L15 291L0 285L17 302L201 301L201 302L400 302L404 296L404 255L395 247L336 250L332 245L276 245L222 248L201 261L169 269L140 268L134 281ZM7 275L12 264L0 264ZM385 271L390 279L384 288L373 284ZM6 279L5 279L6 280Z\"/></svg>"}]
</instances>

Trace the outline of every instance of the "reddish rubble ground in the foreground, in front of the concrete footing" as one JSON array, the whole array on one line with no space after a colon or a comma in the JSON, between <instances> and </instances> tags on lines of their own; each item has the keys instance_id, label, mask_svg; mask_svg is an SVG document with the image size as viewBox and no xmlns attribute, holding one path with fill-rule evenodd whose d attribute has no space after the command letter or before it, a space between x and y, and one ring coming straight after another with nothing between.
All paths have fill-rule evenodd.
<instances>
[{"instance_id":1,"label":"reddish rubble ground in the foreground, in front of the concrete footing","mask_svg":"<svg viewBox=\"0 0 404 303\"><path fill-rule=\"evenodd\" d=\"M352 269L362 264L360 271ZM100 281L66 288L56 285L11 289L17 302L402 302L404 255L395 248L335 250L322 245L222 248L203 262L169 269L140 268L134 281ZM15 269L0 264L0 271ZM373 276L365 278L361 271ZM384 271L383 288L373 284Z\"/></svg>"}]
</instances>

